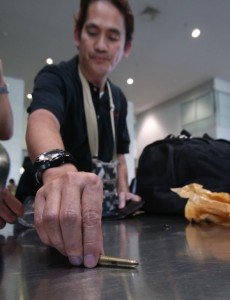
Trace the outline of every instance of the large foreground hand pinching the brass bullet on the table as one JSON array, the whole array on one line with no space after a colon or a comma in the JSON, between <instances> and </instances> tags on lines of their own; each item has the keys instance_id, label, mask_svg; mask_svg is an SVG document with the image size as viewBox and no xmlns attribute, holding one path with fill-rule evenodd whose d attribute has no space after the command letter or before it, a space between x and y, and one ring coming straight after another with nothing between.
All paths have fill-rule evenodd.
<instances>
[{"instance_id":1,"label":"large foreground hand pinching the brass bullet on the table","mask_svg":"<svg viewBox=\"0 0 230 300\"><path fill-rule=\"evenodd\" d=\"M49 170L54 174L55 169L60 168ZM35 227L42 242L73 265L95 267L103 254L102 199L102 182L95 174L68 171L51 180L46 176L35 198Z\"/></svg>"}]
</instances>

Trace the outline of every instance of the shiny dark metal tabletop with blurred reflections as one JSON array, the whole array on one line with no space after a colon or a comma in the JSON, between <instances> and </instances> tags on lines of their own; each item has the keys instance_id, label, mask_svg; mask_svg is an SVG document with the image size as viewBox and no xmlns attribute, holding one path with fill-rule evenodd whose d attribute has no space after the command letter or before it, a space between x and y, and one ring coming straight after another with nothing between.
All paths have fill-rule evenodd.
<instances>
[{"instance_id":1,"label":"shiny dark metal tabletop with blurred reflections","mask_svg":"<svg viewBox=\"0 0 230 300\"><path fill-rule=\"evenodd\" d=\"M43 245L34 229L1 230L0 299L229 299L229 227L139 215L104 221L103 233L106 255L140 265L73 267Z\"/></svg>"}]
</instances>

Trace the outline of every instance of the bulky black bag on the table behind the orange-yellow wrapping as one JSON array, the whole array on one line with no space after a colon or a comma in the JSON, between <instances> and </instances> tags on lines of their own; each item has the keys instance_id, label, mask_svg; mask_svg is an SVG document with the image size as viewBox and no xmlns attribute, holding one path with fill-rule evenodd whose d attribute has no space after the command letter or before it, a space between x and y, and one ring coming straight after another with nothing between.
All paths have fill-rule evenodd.
<instances>
[{"instance_id":1,"label":"bulky black bag on the table behind the orange-yellow wrapping","mask_svg":"<svg viewBox=\"0 0 230 300\"><path fill-rule=\"evenodd\" d=\"M172 187L199 183L213 192L230 193L230 142L186 131L146 146L137 169L137 194L149 213L184 215L187 200Z\"/></svg>"}]
</instances>

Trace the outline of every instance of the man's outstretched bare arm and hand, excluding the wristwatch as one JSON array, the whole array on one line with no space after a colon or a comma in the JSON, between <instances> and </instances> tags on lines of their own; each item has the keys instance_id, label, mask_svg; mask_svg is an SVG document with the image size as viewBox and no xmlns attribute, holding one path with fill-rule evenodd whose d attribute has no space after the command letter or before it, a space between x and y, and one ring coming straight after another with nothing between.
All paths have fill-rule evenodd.
<instances>
[{"instance_id":1,"label":"man's outstretched bare arm and hand, excluding the wristwatch","mask_svg":"<svg viewBox=\"0 0 230 300\"><path fill-rule=\"evenodd\" d=\"M49 150L64 149L55 116L40 109L28 119L26 141L32 161ZM35 227L41 240L68 256L73 265L95 267L103 254L103 187L98 176L72 164L47 169L35 198Z\"/></svg>"}]
</instances>

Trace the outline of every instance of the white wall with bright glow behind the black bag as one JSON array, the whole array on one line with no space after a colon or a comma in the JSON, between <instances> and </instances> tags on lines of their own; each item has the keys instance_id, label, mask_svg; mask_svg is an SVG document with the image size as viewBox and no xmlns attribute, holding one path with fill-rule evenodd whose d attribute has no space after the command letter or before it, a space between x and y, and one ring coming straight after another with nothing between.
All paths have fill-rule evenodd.
<instances>
[{"instance_id":1,"label":"white wall with bright glow behind the black bag","mask_svg":"<svg viewBox=\"0 0 230 300\"><path fill-rule=\"evenodd\" d=\"M224 82L220 79L211 79L198 87L191 89L190 91L178 95L177 97L168 100L167 102L158 105L146 112L143 112L136 116L136 160L139 159L143 148L159 139L165 138L168 134L178 135L183 129L182 126L182 115L181 115L181 104L197 99L210 91L218 90L216 95L219 95L219 105L224 111L225 118L230 120L230 98L227 98L224 94L230 95L230 83ZM217 99L216 99L217 100ZM224 106L225 105L225 106ZM228 107L228 110L227 110ZM219 109L221 111L221 109ZM230 139L230 121L229 126L220 126L217 124L218 118L223 118L223 115L219 116L218 112L215 111L213 118L214 124L205 127L202 130L200 126L199 131L196 131L193 136L202 136L204 133L208 133L213 138L225 138ZM223 121L223 120L222 120ZM205 122L204 122L205 123ZM221 122L219 122L221 123ZM223 123L223 122L222 122Z\"/></svg>"}]
</instances>

